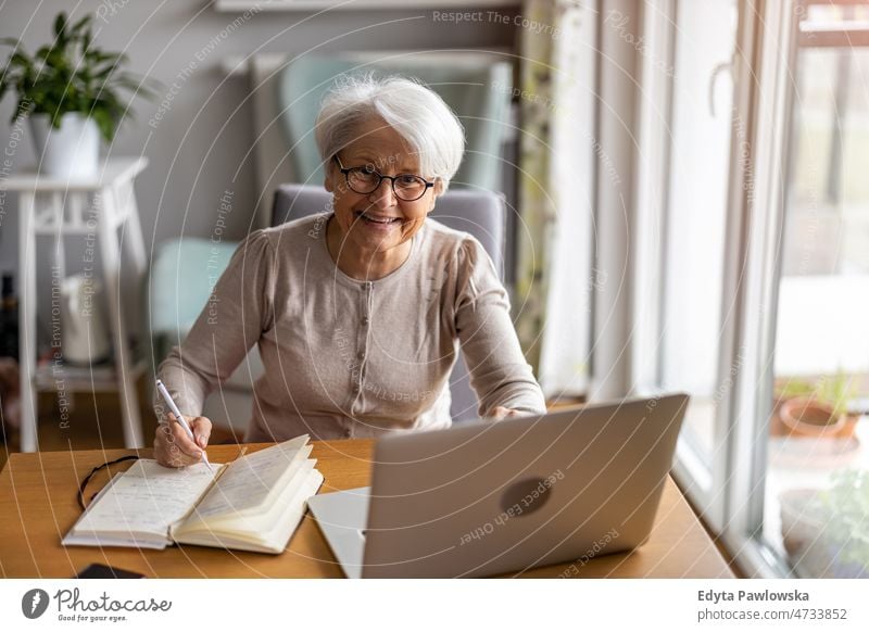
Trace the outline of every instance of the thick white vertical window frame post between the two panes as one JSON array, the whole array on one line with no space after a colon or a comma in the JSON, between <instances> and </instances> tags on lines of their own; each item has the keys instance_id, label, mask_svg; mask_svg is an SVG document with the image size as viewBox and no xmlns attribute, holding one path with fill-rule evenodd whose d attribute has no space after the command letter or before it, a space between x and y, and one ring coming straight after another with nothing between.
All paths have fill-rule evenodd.
<instances>
[{"instance_id":1,"label":"thick white vertical window frame post between the two panes","mask_svg":"<svg viewBox=\"0 0 869 632\"><path fill-rule=\"evenodd\" d=\"M741 21L743 15L741 15ZM786 577L784 560L763 540L769 417L773 397L776 318L781 279L781 240L793 102L794 42L798 12L792 0L758 2L744 15L740 40L751 50L739 64L740 113L751 124L751 173L731 190L739 200L741 278L735 290L734 343L748 353L729 402L730 433L725 545L748 576ZM751 47L751 48L748 48ZM751 63L744 63L751 60ZM742 188L742 191L740 191ZM742 194L740 194L742 193ZM735 207L734 207L735 210ZM735 228L735 226L734 226Z\"/></svg>"}]
</instances>

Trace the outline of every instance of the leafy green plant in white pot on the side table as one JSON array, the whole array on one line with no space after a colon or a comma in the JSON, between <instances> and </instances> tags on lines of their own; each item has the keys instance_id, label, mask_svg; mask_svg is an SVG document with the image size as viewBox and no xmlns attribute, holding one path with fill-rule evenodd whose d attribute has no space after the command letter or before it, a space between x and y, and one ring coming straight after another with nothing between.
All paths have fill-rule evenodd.
<instances>
[{"instance_id":1,"label":"leafy green plant in white pot on the side table","mask_svg":"<svg viewBox=\"0 0 869 632\"><path fill-rule=\"evenodd\" d=\"M80 178L97 172L100 137L111 142L125 115L119 90L147 97L131 74L121 72L126 56L92 46L92 16L71 24L65 13L54 20L54 40L30 56L14 38L0 43L14 47L0 71L0 99L17 93L12 116L28 116L40 173Z\"/></svg>"}]
</instances>

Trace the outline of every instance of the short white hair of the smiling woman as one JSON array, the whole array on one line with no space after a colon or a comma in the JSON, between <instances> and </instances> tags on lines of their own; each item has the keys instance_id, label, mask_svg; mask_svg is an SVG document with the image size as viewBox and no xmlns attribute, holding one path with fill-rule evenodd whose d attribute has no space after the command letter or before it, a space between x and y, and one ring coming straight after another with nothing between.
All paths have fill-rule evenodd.
<instances>
[{"instance_id":1,"label":"short white hair of the smiling woman","mask_svg":"<svg viewBox=\"0 0 869 632\"><path fill-rule=\"evenodd\" d=\"M375 117L417 153L419 175L441 180L445 191L462 163L465 131L440 96L405 77L368 73L338 79L317 116L315 137L324 164L358 139L360 127Z\"/></svg>"}]
</instances>

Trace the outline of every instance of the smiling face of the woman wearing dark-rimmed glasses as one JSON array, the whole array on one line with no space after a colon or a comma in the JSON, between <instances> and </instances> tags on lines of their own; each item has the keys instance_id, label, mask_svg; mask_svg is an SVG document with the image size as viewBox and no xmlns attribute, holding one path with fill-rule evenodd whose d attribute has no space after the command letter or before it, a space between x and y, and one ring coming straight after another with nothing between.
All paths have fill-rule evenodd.
<instances>
[{"instance_id":1,"label":"smiling face of the woman wearing dark-rimmed glasses","mask_svg":"<svg viewBox=\"0 0 869 632\"><path fill-rule=\"evenodd\" d=\"M433 180L431 174L419 173L417 154L380 118L361 126L356 139L338 153L338 159L345 168L368 167L385 176L413 174ZM333 160L326 166L325 185L333 194L341 250L353 256L398 257L400 262L404 261L410 240L434 208L434 200L441 191L440 181L436 181L420 199L406 202L395 197L392 181L383 179L371 193L357 193L348 187L344 174Z\"/></svg>"}]
</instances>

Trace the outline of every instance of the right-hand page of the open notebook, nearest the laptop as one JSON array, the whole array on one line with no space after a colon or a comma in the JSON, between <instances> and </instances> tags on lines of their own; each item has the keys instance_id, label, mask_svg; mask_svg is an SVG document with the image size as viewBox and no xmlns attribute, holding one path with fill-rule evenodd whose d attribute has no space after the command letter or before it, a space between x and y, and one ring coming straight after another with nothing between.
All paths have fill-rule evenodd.
<instances>
[{"instance_id":1,"label":"right-hand page of the open notebook, nearest the laptop","mask_svg":"<svg viewBox=\"0 0 869 632\"><path fill-rule=\"evenodd\" d=\"M300 439L307 441L307 435ZM304 463L311 447L292 440L235 460L199 503L196 516L206 519L259 507L293 464Z\"/></svg>"}]
</instances>

